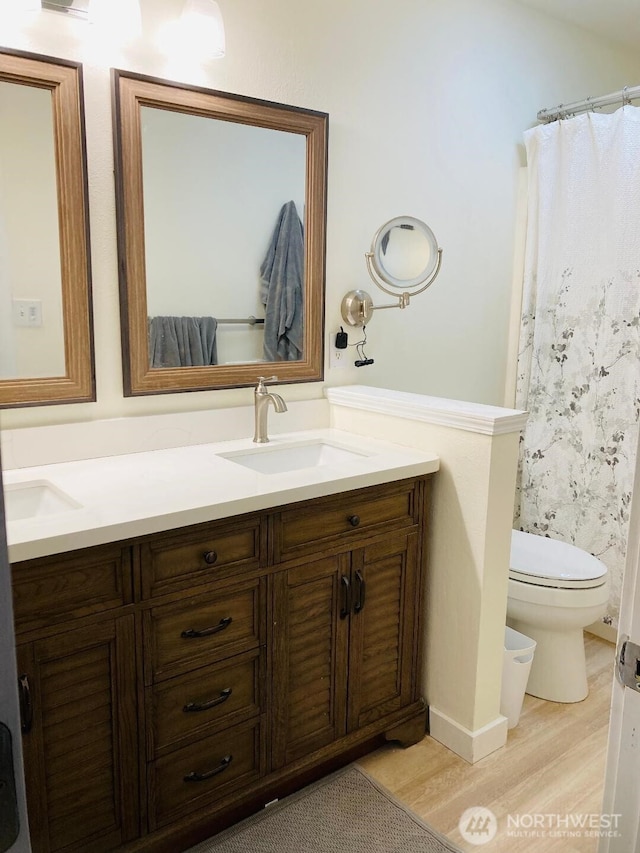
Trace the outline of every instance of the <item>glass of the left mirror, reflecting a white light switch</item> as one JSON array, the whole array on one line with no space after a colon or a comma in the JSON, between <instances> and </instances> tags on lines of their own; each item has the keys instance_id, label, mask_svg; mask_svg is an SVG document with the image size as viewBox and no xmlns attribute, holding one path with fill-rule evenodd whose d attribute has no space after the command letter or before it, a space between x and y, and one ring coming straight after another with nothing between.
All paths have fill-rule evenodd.
<instances>
[{"instance_id":1,"label":"glass of the left mirror, reflecting a white light switch","mask_svg":"<svg viewBox=\"0 0 640 853\"><path fill-rule=\"evenodd\" d=\"M64 376L51 95L0 82L0 116L0 378Z\"/></svg>"}]
</instances>

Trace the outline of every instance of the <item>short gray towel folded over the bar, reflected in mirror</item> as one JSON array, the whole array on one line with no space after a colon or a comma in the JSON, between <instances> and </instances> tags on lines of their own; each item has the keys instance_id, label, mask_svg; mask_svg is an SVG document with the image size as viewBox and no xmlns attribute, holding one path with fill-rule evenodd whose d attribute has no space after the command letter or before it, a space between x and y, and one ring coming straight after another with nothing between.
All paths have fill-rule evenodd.
<instances>
[{"instance_id":1,"label":"short gray towel folded over the bar, reflected in mirror","mask_svg":"<svg viewBox=\"0 0 640 853\"><path fill-rule=\"evenodd\" d=\"M218 363L213 317L149 317L151 367L204 367Z\"/></svg>"}]
</instances>

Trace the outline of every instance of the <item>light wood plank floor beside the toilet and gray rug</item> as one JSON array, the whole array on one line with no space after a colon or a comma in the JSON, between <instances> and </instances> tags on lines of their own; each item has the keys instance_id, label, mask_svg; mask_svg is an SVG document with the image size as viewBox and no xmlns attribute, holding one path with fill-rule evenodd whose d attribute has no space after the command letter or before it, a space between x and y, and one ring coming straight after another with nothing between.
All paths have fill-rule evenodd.
<instances>
[{"instance_id":1,"label":"light wood plank floor beside the toilet and gray rug","mask_svg":"<svg viewBox=\"0 0 640 853\"><path fill-rule=\"evenodd\" d=\"M569 824L555 818L542 818L544 828L529 829L537 836L518 836L525 830L513 825L514 816L573 820L600 814L615 648L590 634L585 639L589 696L570 705L525 696L504 749L471 765L426 737L408 749L388 744L360 765L464 851L595 853L597 838L585 830L575 837ZM461 815L473 806L491 809L498 819L497 835L481 847L465 842L458 831Z\"/></svg>"}]
</instances>

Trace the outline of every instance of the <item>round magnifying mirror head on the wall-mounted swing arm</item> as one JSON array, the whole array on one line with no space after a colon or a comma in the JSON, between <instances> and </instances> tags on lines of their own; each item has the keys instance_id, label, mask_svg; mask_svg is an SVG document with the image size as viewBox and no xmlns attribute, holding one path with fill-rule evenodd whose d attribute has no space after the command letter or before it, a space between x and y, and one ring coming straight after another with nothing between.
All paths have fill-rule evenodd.
<instances>
[{"instance_id":1,"label":"round magnifying mirror head on the wall-mounted swing arm","mask_svg":"<svg viewBox=\"0 0 640 853\"><path fill-rule=\"evenodd\" d=\"M433 276L440 253L428 225L413 216L397 216L377 231L367 260L369 271L383 290L387 284L411 292Z\"/></svg>"}]
</instances>

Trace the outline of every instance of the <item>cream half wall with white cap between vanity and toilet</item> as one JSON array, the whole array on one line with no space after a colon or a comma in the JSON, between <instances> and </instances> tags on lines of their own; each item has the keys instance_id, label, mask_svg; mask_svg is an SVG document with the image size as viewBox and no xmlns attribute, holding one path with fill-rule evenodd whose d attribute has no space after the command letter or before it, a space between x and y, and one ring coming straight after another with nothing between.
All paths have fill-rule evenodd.
<instances>
[{"instance_id":1,"label":"cream half wall with white cap between vanity and toilet","mask_svg":"<svg viewBox=\"0 0 640 853\"><path fill-rule=\"evenodd\" d=\"M473 418L461 427L447 400L435 401L440 417L434 418L426 412L434 402L429 397L405 395L399 411L385 410L389 396L357 386L329 391L331 426L440 457L430 513L423 695L431 735L473 763L504 746L507 736L500 682L522 413L466 404Z\"/></svg>"}]
</instances>

